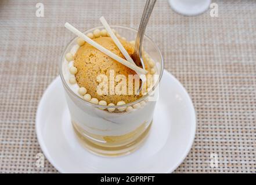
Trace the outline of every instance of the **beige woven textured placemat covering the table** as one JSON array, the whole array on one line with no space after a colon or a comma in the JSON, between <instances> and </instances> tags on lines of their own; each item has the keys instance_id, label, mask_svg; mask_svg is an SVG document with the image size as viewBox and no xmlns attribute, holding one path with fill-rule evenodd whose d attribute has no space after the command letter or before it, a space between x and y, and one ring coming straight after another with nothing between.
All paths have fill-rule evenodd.
<instances>
[{"instance_id":1,"label":"beige woven textured placemat covering the table","mask_svg":"<svg viewBox=\"0 0 256 185\"><path fill-rule=\"evenodd\" d=\"M42 93L58 75L58 61L79 29L111 24L137 28L144 1L0 1L0 172L52 173L48 162L35 166L41 152L35 112ZM219 17L174 13L158 0L147 35L163 52L165 69L193 99L197 132L181 172L256 172L256 2L214 1ZM211 168L217 153L219 167Z\"/></svg>"}]
</instances>

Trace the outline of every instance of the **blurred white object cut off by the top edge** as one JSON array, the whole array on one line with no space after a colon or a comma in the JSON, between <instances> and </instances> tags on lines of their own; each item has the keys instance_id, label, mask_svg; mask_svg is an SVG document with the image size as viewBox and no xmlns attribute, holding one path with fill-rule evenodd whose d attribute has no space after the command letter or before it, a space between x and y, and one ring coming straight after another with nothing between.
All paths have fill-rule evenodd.
<instances>
[{"instance_id":1,"label":"blurred white object cut off by the top edge","mask_svg":"<svg viewBox=\"0 0 256 185\"><path fill-rule=\"evenodd\" d=\"M171 8L185 16L196 16L208 10L211 0L168 0Z\"/></svg>"}]
</instances>

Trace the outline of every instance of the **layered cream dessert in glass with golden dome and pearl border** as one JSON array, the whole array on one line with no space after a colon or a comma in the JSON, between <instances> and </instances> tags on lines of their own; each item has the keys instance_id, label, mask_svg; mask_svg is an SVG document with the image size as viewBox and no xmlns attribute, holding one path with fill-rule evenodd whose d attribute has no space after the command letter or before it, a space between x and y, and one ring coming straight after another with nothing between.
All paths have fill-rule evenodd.
<instances>
[{"instance_id":1,"label":"layered cream dessert in glass with golden dome and pearl border","mask_svg":"<svg viewBox=\"0 0 256 185\"><path fill-rule=\"evenodd\" d=\"M122 26L111 26L111 31L131 56L135 47L132 40L137 31ZM89 29L84 34L126 60L104 27ZM143 60L145 82L138 72L80 37L72 39L64 50L60 76L71 123L82 145L92 153L100 156L129 154L138 149L149 134L157 100L150 99L149 92L158 87L163 59L158 47L146 35Z\"/></svg>"}]
</instances>

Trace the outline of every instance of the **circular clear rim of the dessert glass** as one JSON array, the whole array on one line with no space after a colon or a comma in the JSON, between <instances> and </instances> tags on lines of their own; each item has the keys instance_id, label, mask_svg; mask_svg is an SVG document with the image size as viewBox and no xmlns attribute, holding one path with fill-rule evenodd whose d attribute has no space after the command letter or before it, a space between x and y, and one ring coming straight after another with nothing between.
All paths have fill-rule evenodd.
<instances>
[{"instance_id":1,"label":"circular clear rim of the dessert glass","mask_svg":"<svg viewBox=\"0 0 256 185\"><path fill-rule=\"evenodd\" d=\"M129 29L131 31L135 31L135 32L138 32L138 30L134 29L134 28L130 28L130 27L125 27L125 26L122 26L122 25L110 25L110 27L112 28L123 28L123 29ZM102 29L104 28L103 26L99 26L99 27L95 27L95 28L91 28L91 29L88 29L88 30L85 30L83 31L83 33L85 32L91 32L93 31L94 29ZM164 60L163 60L163 55L160 51L160 49L158 48L158 46L156 45L156 43L153 42L153 40L151 38L149 38L149 36L147 36L146 34L144 35L153 45L154 49L157 50L157 52L160 54L160 58L161 58L161 69L160 69L160 74L159 74L159 77L158 77L158 80L157 80L157 83L154 84L153 86L153 89L156 88L158 86L158 84L160 83L160 80L163 76L163 72L164 72ZM67 43L67 46L65 47L64 51L62 52L62 55L61 55L61 60L60 60L60 63L59 63L59 74L60 74L60 78L62 79L62 83L64 84L64 87L67 88L67 90L72 94L74 95L74 97L76 97L79 101L85 103L86 105L89 105L89 106L93 106L93 107L96 107L96 108L104 108L104 109L107 109L107 108L124 108L124 107L127 107L127 106L132 106L132 105L135 105L136 103L139 103L143 100L145 100L147 97L149 97L149 93L147 92L146 95L143 95L142 97L140 97L139 99L137 99L136 101L133 101L133 102L129 102L129 103L126 103L124 105L114 105L114 106L108 106L108 105L98 105L98 104L94 104L94 103L91 103L91 102L88 102L86 101L85 99L81 98L80 96L78 96L77 94L75 94L75 92L73 90L71 90L70 87L68 87L68 84L66 83L66 80L64 80L64 76L63 76L63 73L62 73L62 63L63 63L63 59L64 59L64 56L65 56L65 53L67 51L67 48L68 46L71 45L71 43L76 39L78 38L78 36L75 36L73 39L70 40L70 42Z\"/></svg>"}]
</instances>

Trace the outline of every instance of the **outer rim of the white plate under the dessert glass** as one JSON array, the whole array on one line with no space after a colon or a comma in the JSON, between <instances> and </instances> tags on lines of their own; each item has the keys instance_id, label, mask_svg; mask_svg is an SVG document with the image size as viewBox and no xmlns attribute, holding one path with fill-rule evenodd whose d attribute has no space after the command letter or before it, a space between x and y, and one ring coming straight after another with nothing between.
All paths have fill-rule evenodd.
<instances>
[{"instance_id":1,"label":"outer rim of the white plate under the dessert glass","mask_svg":"<svg viewBox=\"0 0 256 185\"><path fill-rule=\"evenodd\" d=\"M194 109L194 105L193 105L193 101L192 98L190 97L188 91L186 91L186 88L183 87L182 83L179 82L178 79L176 79L176 77L174 75L172 75L170 72L168 72L166 69L164 69L164 73L166 73L167 75L171 76L172 79L175 80L175 83L178 84L178 86L182 89L182 91L185 92L186 97L188 98L188 101L190 103L190 105L192 106L192 115L193 115L193 120L191 121L190 124L192 124L192 138L189 139L189 144L188 147L186 147L186 151L183 153L183 156L181 157L181 160L179 160L176 165L172 166L167 172L165 173L171 173L173 171L175 171L176 168L178 168L179 165L182 164L182 162L185 160L185 158L188 156L189 151L192 149L193 143L194 143L194 138L196 136L196 129L197 129L197 117L196 117L196 110ZM163 75L164 76L164 75ZM44 140L42 139L42 134L41 134L41 130L39 129L39 117L41 117L42 114L42 106L45 102L45 98L46 98L46 94L47 92L52 88L52 86L55 86L55 83L57 83L57 81L60 80L60 76L57 76L54 80L52 80L52 82L49 84L49 86L45 89L44 93L42 94L42 97L38 103L37 106L37 112L36 112L36 117L35 117L35 130L36 130L36 135L37 135L37 140L39 143L39 146L41 147L41 151L44 154L44 156L47 158L47 160L57 169L58 172L60 173L66 173L64 172L64 170L62 168L59 168L58 165L56 165L55 161L53 160L53 158L51 157L51 155L48 153L48 149L45 145ZM161 84L160 84L161 85Z\"/></svg>"}]
</instances>

